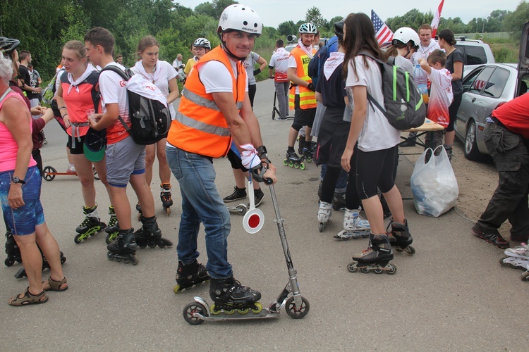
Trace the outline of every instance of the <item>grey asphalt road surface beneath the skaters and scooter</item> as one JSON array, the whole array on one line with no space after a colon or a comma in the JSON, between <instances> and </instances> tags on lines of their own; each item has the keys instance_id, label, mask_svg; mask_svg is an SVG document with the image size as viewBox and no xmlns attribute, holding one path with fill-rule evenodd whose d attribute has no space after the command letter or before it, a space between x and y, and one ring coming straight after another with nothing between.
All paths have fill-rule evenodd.
<instances>
[{"instance_id":1,"label":"grey asphalt road surface beneath the skaters and scooter","mask_svg":"<svg viewBox=\"0 0 529 352\"><path fill-rule=\"evenodd\" d=\"M471 236L472 224L454 210L428 218L416 213L412 201L404 201L417 253L395 253L396 275L348 272L351 254L365 249L367 239L335 240L342 228L339 212L323 233L318 231L320 169L313 163L306 170L281 165L291 122L272 120L273 89L272 81L257 84L255 113L277 165L276 192L286 236L300 291L310 301L305 318L293 320L283 312L269 320L188 325L182 309L193 296L211 301L207 284L173 293L181 215L178 182L173 178L170 216L159 202L156 175L152 184L159 225L175 246L138 249L140 263L133 266L107 259L104 234L74 244L75 227L83 220L80 184L77 177L57 176L43 182L41 199L47 224L67 257L63 268L70 289L51 292L44 305L11 307L8 299L28 283L13 278L20 264L1 268L0 350L526 351L528 282L521 282L521 270L501 267L502 251ZM52 121L46 135L44 165L66 170L65 134ZM229 161L219 159L214 165L219 192L231 194ZM412 170L413 163L401 156L397 184L405 197L411 196ZM135 203L132 189L128 191ZM109 201L100 183L97 192L99 213L107 222ZM265 195L261 232L246 233L243 218L231 215L229 259L236 279L261 291L267 306L284 288L288 274L267 189ZM134 220L134 225L140 223ZM205 263L203 231L199 250Z\"/></svg>"}]
</instances>

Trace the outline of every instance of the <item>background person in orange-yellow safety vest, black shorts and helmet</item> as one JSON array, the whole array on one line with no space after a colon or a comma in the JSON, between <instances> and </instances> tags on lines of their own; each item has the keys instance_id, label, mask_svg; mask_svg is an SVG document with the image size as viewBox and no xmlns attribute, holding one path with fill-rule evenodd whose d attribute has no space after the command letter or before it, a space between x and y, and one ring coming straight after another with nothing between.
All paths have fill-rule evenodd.
<instances>
[{"instance_id":1,"label":"background person in orange-yellow safety vest, black shorts and helmet","mask_svg":"<svg viewBox=\"0 0 529 352\"><path fill-rule=\"evenodd\" d=\"M288 94L288 107L294 109L294 121L288 131L288 150L286 151L286 161L298 164L301 158L294 151L296 137L301 127L305 127L305 139L300 138L299 149L303 151L305 142L310 148L310 130L316 115L316 87L312 84L312 78L308 75L308 64L316 53L312 47L317 28L312 23L303 23L299 27L300 38L298 46L292 49L288 58L287 77L291 81L291 88Z\"/></svg>"}]
</instances>

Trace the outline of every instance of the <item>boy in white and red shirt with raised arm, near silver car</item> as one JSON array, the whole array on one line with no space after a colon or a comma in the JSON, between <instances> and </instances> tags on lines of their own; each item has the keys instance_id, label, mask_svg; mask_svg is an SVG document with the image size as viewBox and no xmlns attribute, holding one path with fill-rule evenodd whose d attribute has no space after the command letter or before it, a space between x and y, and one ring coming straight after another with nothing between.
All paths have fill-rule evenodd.
<instances>
[{"instance_id":1,"label":"boy in white and red shirt with raised arm, near silver car","mask_svg":"<svg viewBox=\"0 0 529 352\"><path fill-rule=\"evenodd\" d=\"M437 122L444 128L448 127L450 122L450 115L448 108L454 100L454 93L452 92L452 75L449 70L444 68L446 64L446 54L440 49L432 51L427 60L419 58L418 63L420 68L425 71L428 80L432 81L430 89L430 103L428 103L427 118L433 122ZM443 142L444 131L432 132L433 140L430 141L430 133L426 134L425 142L427 146L432 149L437 148ZM440 152L440 151L439 151ZM436 153L438 155L438 153Z\"/></svg>"}]
</instances>

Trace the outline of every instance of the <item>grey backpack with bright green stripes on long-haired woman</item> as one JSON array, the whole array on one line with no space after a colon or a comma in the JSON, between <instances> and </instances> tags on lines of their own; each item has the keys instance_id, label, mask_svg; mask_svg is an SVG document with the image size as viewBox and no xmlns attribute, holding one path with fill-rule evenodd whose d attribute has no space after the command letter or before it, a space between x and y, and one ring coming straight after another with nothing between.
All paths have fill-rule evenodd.
<instances>
[{"instance_id":1,"label":"grey backpack with bright green stripes on long-haired woman","mask_svg":"<svg viewBox=\"0 0 529 352\"><path fill-rule=\"evenodd\" d=\"M393 63L384 63L367 51L360 55L367 56L377 61L382 72L382 94L384 94L384 107L367 93L367 100L384 113L389 124L397 130L409 130L425 123L426 106L422 101L417 84L413 77Z\"/></svg>"}]
</instances>

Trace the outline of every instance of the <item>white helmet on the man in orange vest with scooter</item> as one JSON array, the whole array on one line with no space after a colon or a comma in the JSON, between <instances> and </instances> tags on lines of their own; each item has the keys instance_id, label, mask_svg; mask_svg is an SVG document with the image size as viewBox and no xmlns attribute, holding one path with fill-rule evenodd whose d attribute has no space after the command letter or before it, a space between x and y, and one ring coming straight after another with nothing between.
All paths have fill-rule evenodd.
<instances>
[{"instance_id":1,"label":"white helmet on the man in orange vest with scooter","mask_svg":"<svg viewBox=\"0 0 529 352\"><path fill-rule=\"evenodd\" d=\"M220 34L226 30L240 30L259 36L262 33L261 18L248 6L230 5L221 13L217 33Z\"/></svg>"}]
</instances>

